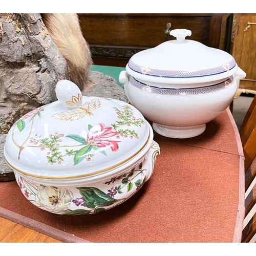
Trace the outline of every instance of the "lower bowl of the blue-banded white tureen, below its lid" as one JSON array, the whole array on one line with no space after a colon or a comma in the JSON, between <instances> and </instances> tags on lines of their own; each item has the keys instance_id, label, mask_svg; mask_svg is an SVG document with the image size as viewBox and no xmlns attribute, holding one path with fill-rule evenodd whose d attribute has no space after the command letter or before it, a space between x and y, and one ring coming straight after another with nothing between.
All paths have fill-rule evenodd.
<instances>
[{"instance_id":1,"label":"lower bowl of the blue-banded white tureen, below its lid","mask_svg":"<svg viewBox=\"0 0 256 256\"><path fill-rule=\"evenodd\" d=\"M133 77L128 79L125 73L122 75L127 79L125 92L129 100L153 122L157 133L171 138L190 138L203 133L205 124L227 108L237 91L233 76L216 86L177 90L146 85L139 88L140 82Z\"/></svg>"}]
</instances>

